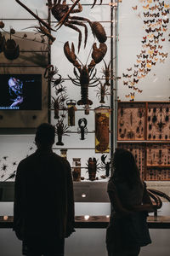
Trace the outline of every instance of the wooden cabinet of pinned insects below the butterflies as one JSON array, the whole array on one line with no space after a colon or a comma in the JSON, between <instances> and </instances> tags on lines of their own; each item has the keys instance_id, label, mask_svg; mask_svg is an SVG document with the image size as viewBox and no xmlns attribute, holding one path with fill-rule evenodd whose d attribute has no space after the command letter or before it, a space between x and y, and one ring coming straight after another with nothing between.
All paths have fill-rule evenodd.
<instances>
[{"instance_id":1,"label":"wooden cabinet of pinned insects below the butterflies","mask_svg":"<svg viewBox=\"0 0 170 256\"><path fill-rule=\"evenodd\" d=\"M118 147L132 151L144 180L169 181L169 108L170 102L118 103Z\"/></svg>"}]
</instances>

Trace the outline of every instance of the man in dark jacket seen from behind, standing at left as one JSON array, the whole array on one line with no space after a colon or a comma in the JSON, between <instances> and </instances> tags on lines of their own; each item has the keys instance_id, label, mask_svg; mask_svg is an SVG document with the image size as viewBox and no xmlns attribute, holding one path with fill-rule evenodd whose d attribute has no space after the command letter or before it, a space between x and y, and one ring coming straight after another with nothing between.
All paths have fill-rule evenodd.
<instances>
[{"instance_id":1,"label":"man in dark jacket seen from behind, standing at left","mask_svg":"<svg viewBox=\"0 0 170 256\"><path fill-rule=\"evenodd\" d=\"M71 166L52 151L53 125L37 127L37 151L20 161L14 189L14 231L27 256L63 256L74 231Z\"/></svg>"}]
</instances>

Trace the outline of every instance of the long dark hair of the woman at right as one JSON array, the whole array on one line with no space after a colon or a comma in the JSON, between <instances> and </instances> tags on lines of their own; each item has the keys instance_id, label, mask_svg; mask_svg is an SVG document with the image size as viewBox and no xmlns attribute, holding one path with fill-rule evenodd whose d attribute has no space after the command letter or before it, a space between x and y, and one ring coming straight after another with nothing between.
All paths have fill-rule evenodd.
<instances>
[{"instance_id":1,"label":"long dark hair of the woman at right","mask_svg":"<svg viewBox=\"0 0 170 256\"><path fill-rule=\"evenodd\" d=\"M133 154L123 148L116 148L113 157L113 180L115 182L127 182L130 189L137 183L141 183L139 168Z\"/></svg>"}]
</instances>

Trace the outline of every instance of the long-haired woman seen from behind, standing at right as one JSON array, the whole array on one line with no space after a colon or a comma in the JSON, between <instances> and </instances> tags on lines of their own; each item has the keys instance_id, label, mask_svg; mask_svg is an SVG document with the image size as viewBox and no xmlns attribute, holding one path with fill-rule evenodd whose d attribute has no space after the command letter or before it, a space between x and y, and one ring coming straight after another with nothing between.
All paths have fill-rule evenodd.
<instances>
[{"instance_id":1,"label":"long-haired woman seen from behind, standing at right","mask_svg":"<svg viewBox=\"0 0 170 256\"><path fill-rule=\"evenodd\" d=\"M146 217L154 211L153 205L130 151L116 148L113 166L107 189L111 200L106 232L108 255L137 256L140 247L151 242Z\"/></svg>"}]
</instances>

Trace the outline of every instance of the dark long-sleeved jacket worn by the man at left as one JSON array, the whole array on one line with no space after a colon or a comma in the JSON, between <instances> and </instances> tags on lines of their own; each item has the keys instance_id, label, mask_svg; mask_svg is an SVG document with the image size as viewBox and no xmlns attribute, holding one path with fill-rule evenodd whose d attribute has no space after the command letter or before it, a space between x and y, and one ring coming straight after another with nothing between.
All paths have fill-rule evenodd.
<instances>
[{"instance_id":1,"label":"dark long-sleeved jacket worn by the man at left","mask_svg":"<svg viewBox=\"0 0 170 256\"><path fill-rule=\"evenodd\" d=\"M14 231L27 236L71 235L74 199L71 166L51 149L20 161L14 189Z\"/></svg>"}]
</instances>

